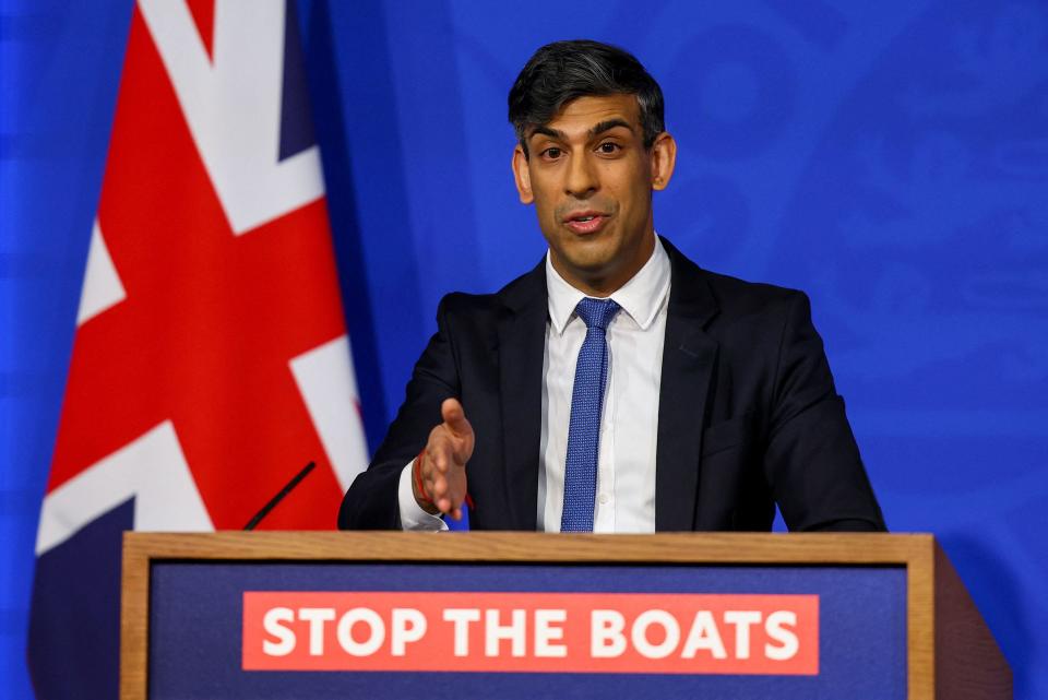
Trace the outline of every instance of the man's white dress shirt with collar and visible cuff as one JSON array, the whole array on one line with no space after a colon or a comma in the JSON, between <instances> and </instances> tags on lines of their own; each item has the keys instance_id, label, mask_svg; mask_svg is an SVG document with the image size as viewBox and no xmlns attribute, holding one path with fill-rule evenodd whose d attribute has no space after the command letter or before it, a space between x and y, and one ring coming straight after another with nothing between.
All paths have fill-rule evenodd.
<instances>
[{"instance_id":1,"label":"man's white dress shirt with collar and visible cuff","mask_svg":"<svg viewBox=\"0 0 1048 700\"><path fill-rule=\"evenodd\" d=\"M594 532L655 532L655 449L658 388L669 300L669 257L656 237L652 257L611 294L621 307L608 324L608 377L597 461ZM585 294L572 287L546 256L549 319L543 359L543 422L538 465L537 530L558 532L564 502L568 425L575 363L586 324L575 313ZM466 418L468 418L468 414ZM422 510L412 490L414 460L401 473L404 530L445 530ZM468 473L468 468L467 468Z\"/></svg>"}]
</instances>

